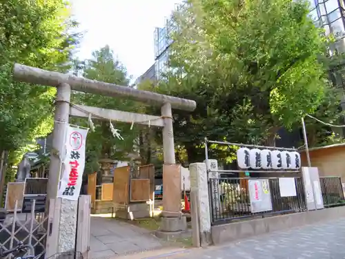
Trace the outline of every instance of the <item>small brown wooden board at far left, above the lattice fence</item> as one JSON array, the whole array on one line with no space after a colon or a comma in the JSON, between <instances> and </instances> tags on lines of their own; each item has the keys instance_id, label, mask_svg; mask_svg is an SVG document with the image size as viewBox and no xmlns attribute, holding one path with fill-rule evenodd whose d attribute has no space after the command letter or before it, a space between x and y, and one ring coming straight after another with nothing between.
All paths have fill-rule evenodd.
<instances>
[{"instance_id":1,"label":"small brown wooden board at far left, above the lattice fence","mask_svg":"<svg viewBox=\"0 0 345 259\"><path fill-rule=\"evenodd\" d=\"M17 209L23 206L24 182L9 182L7 184L5 209L7 211L14 211L14 205L18 200Z\"/></svg>"}]
</instances>

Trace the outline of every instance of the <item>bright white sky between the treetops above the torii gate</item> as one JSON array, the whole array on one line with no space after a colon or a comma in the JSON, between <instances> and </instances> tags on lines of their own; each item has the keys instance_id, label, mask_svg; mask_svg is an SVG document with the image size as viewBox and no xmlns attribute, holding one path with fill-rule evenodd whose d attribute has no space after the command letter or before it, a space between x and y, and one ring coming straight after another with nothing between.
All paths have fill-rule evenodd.
<instances>
[{"instance_id":1,"label":"bright white sky between the treetops above the torii gate","mask_svg":"<svg viewBox=\"0 0 345 259\"><path fill-rule=\"evenodd\" d=\"M106 44L135 78L154 62L153 31L164 25L181 0L71 0L72 13L86 31L78 56Z\"/></svg>"}]
</instances>

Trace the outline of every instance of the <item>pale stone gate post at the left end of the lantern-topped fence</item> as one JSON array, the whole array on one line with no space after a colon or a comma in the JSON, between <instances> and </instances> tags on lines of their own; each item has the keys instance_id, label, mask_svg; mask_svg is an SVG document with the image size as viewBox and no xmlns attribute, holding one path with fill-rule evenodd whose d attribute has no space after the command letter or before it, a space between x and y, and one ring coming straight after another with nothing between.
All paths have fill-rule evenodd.
<instances>
[{"instance_id":1,"label":"pale stone gate post at the left end of the lantern-topped fence","mask_svg":"<svg viewBox=\"0 0 345 259\"><path fill-rule=\"evenodd\" d=\"M210 200L208 195L208 179L205 163L193 163L189 165L190 171L190 200L196 200L191 209L192 224L199 226L193 229L193 242L200 238L201 247L212 243ZM193 204L194 205L194 204ZM194 215L194 217L193 217ZM197 217L195 216L197 215ZM196 231L199 230L199 235Z\"/></svg>"}]
</instances>

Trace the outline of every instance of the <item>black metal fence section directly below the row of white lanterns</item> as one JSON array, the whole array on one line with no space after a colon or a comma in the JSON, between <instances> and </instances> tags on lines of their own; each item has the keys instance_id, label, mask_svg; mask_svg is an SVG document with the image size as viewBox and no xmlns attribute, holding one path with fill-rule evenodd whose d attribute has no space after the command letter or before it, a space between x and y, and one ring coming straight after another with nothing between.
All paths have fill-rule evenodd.
<instances>
[{"instance_id":1,"label":"black metal fence section directly below the row of white lanterns","mask_svg":"<svg viewBox=\"0 0 345 259\"><path fill-rule=\"evenodd\" d=\"M248 180L255 179L210 178L208 186L212 224L306 210L304 186L301 178L294 178L296 195L290 197L281 197L279 178L257 178L258 180L267 179L269 182L272 210L251 212ZM215 196L219 198L214 198Z\"/></svg>"}]
</instances>

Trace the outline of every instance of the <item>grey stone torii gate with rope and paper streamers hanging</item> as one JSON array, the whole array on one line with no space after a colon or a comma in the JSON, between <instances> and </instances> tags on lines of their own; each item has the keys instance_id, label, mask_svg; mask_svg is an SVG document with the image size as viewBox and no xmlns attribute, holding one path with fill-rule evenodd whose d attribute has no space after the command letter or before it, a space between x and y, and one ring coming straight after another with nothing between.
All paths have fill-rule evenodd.
<instances>
[{"instance_id":1,"label":"grey stone torii gate with rope and paper streamers hanging","mask_svg":"<svg viewBox=\"0 0 345 259\"><path fill-rule=\"evenodd\" d=\"M41 84L43 86L57 87L57 98L55 102L55 122L52 131L52 148L57 153L62 153L64 135L63 124L68 123L70 115L78 117L88 117L89 114L96 114L114 121L138 122L141 124L151 124L152 126L163 127L163 184L164 190L169 190L169 195L164 195L163 220L165 221L166 231L176 231L176 224L179 224L181 207L181 190L172 188L170 184L176 182L177 174L169 173L166 165L175 164L174 136L172 131L172 108L194 111L197 104L188 99L181 99L168 95L160 95L144 90L137 90L126 86L117 86L101 81L90 80L81 77L75 77L68 74L61 74L39 68L33 68L21 64L14 64L14 79L26 83ZM114 111L104 108L81 106L72 104L70 106L71 90L77 90L84 93L93 93L112 97L125 97L135 101L145 102L147 104L161 106L161 117L144 115L139 113L127 113L124 111ZM150 121L150 122L149 122ZM47 200L56 199L58 185L60 180L59 169L61 161L58 155L50 155L49 179ZM180 178L180 175L178 176ZM180 186L180 181L177 186ZM170 187L170 188L169 188ZM173 209L171 209L173 208ZM61 215L59 218L59 233L57 235L57 251L71 251L75 247L75 229L77 226L77 201L61 200ZM169 229L170 228L170 229ZM64 233L63 233L64 232Z\"/></svg>"}]
</instances>

